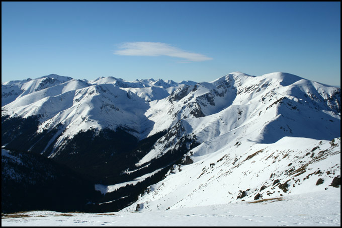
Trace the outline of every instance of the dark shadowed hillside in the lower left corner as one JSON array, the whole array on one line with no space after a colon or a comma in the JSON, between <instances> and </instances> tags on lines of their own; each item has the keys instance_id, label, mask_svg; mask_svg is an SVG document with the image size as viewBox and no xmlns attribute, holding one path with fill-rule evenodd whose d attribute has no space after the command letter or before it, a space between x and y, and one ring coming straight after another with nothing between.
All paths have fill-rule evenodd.
<instances>
[{"instance_id":1,"label":"dark shadowed hillside in the lower left corner","mask_svg":"<svg viewBox=\"0 0 342 228\"><path fill-rule=\"evenodd\" d=\"M2 149L2 211L84 210L99 197L82 177L42 156Z\"/></svg>"}]
</instances>

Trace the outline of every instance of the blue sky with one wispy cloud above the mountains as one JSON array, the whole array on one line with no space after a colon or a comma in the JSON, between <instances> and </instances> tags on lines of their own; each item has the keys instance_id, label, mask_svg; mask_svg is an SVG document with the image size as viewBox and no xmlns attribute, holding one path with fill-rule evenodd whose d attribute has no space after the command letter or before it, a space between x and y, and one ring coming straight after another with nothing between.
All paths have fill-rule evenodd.
<instances>
[{"instance_id":1,"label":"blue sky with one wispy cloud above the mountains","mask_svg":"<svg viewBox=\"0 0 342 228\"><path fill-rule=\"evenodd\" d=\"M2 2L2 82L210 82L233 71L340 85L340 2Z\"/></svg>"}]
</instances>

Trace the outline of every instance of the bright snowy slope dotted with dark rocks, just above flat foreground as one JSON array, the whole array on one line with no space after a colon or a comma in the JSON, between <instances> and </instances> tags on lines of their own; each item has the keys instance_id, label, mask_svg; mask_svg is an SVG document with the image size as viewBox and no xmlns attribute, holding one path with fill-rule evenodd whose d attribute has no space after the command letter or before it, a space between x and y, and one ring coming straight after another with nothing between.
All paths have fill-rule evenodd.
<instances>
[{"instance_id":1,"label":"bright snowy slope dotted with dark rocks, just above flat foreground","mask_svg":"<svg viewBox=\"0 0 342 228\"><path fill-rule=\"evenodd\" d=\"M329 185L340 176L340 138L285 137L272 144L227 145L216 140L206 147L215 152L203 154L205 148L196 147L193 164L174 166L163 181L125 210L135 210L137 204L141 210L165 210L250 201L258 194L270 198L322 191L332 188ZM319 179L323 183L316 185Z\"/></svg>"}]
</instances>

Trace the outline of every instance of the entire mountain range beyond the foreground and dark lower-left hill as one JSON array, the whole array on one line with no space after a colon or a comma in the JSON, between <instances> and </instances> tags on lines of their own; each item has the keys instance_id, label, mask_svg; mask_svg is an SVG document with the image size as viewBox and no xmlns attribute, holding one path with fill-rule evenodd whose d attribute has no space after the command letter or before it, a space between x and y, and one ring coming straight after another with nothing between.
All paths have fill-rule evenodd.
<instances>
[{"instance_id":1,"label":"entire mountain range beyond the foreground and dark lower-left hill","mask_svg":"<svg viewBox=\"0 0 342 228\"><path fill-rule=\"evenodd\" d=\"M279 197L340 180L340 89L289 73L11 81L2 83L2 128L6 149L90 176L107 197L94 204L140 188L124 210Z\"/></svg>"}]
</instances>

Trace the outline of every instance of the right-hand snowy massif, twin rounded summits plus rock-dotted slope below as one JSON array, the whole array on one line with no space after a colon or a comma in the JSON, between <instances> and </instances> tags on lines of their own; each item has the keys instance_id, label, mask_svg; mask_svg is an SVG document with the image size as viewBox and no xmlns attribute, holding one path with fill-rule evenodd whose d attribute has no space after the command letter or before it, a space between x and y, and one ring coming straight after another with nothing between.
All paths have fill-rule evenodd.
<instances>
[{"instance_id":1,"label":"right-hand snowy massif, twin rounded summits plus rock-dotted slope below","mask_svg":"<svg viewBox=\"0 0 342 228\"><path fill-rule=\"evenodd\" d=\"M126 210L280 197L331 188L340 178L338 88L288 73L251 77L234 72L209 84L179 88L152 108L157 109L147 111L150 119L164 120L159 129L177 122L183 135L196 135L202 143L187 153L193 164L174 166L177 172ZM137 165L167 153L169 144L163 141ZM323 183L316 185L319 179Z\"/></svg>"}]
</instances>

